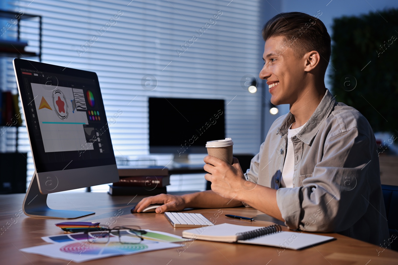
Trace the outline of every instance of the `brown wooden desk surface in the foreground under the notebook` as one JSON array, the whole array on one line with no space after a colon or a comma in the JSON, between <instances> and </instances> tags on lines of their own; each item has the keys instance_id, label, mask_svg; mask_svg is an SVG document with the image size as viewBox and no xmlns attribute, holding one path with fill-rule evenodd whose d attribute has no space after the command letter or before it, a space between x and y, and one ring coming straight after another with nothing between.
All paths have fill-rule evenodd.
<instances>
[{"instance_id":1,"label":"brown wooden desk surface in the foreground under the notebook","mask_svg":"<svg viewBox=\"0 0 398 265\"><path fill-rule=\"evenodd\" d=\"M6 225L15 213L22 208L24 194L0 195L0 226ZM114 222L113 225L139 225L141 228L169 232L181 236L187 228L173 228L163 214L140 213L131 214L132 205L142 198L137 196L115 196L107 193L63 193L50 194L48 204L54 209L70 209L96 211L95 215L74 219L76 221L98 221L102 224ZM133 200L132 200L133 199ZM88 206L82 206L84 204ZM76 207L75 207L76 206ZM119 210L123 214L114 219ZM222 211L221 215L217 215ZM119 211L120 212L120 211ZM207 219L216 224L224 222L248 226L267 226L272 224L271 217L253 208L229 209L201 209L192 210L193 213L202 213ZM239 221L227 218L224 214L253 217L255 222ZM113 217L113 218L112 218ZM52 259L41 255L20 252L18 249L47 244L41 236L62 234L60 228L54 224L60 219L41 219L21 215L17 222L8 227L0 235L1 264L4 265L49 265L74 264L61 259ZM287 230L283 227L283 230ZM249 244L231 244L195 240L185 243L185 248L150 251L127 256L109 257L88 261L87 265L117 264L327 264L327 265L372 265L398 264L398 252L384 250L377 253L378 246L359 240L341 236L339 234L325 234L334 236L337 240L305 250L285 250L281 248L256 246ZM281 252L283 251L283 252ZM371 260L371 261L370 261ZM370 261L370 262L369 262ZM369 262L369 263L368 263Z\"/></svg>"}]
</instances>

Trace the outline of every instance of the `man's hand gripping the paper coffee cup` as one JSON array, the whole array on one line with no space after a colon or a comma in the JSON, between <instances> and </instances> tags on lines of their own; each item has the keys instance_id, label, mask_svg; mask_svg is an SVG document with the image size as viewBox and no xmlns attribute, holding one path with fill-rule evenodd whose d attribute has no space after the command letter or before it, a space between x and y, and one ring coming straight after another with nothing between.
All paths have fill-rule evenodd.
<instances>
[{"instance_id":1,"label":"man's hand gripping the paper coffee cup","mask_svg":"<svg viewBox=\"0 0 398 265\"><path fill-rule=\"evenodd\" d=\"M203 168L209 172L205 174L205 179L211 182L211 190L227 199L233 199L238 195L242 190L242 182L246 179L236 157L232 165L211 155L207 155L203 161L206 163Z\"/></svg>"}]
</instances>

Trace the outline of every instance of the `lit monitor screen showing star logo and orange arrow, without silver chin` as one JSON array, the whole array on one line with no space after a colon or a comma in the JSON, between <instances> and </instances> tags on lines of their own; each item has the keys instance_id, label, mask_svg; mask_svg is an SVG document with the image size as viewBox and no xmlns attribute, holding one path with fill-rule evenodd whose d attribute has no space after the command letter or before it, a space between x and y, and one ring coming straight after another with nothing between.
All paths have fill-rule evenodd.
<instances>
[{"instance_id":1,"label":"lit monitor screen showing star logo and orange arrow, without silver chin","mask_svg":"<svg viewBox=\"0 0 398 265\"><path fill-rule=\"evenodd\" d=\"M116 164L96 73L20 59L14 67L37 173Z\"/></svg>"}]
</instances>

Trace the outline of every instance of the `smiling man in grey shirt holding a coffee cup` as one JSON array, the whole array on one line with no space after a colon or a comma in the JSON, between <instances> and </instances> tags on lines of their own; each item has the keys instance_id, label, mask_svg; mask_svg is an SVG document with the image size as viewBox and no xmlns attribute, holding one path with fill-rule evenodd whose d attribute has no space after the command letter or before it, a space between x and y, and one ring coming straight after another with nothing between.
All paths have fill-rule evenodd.
<instances>
[{"instance_id":1,"label":"smiling man in grey shirt holding a coffee cup","mask_svg":"<svg viewBox=\"0 0 398 265\"><path fill-rule=\"evenodd\" d=\"M142 199L135 212L254 207L290 229L338 232L381 244L389 238L375 136L357 110L337 103L324 85L330 58L325 25L310 15L276 15L263 28L271 103L290 112L273 122L250 170L206 156L211 190ZM342 63L343 56L342 56Z\"/></svg>"}]
</instances>

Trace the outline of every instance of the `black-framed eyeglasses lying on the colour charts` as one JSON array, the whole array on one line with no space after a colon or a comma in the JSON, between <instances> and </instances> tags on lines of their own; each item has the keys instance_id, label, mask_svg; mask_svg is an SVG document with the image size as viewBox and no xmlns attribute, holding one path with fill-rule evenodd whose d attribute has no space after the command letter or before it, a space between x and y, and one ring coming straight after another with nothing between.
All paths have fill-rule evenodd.
<instances>
[{"instance_id":1,"label":"black-framed eyeglasses lying on the colour charts","mask_svg":"<svg viewBox=\"0 0 398 265\"><path fill-rule=\"evenodd\" d=\"M102 226L99 230L84 232L87 241L90 243L108 243L110 238L118 237L121 244L137 244L144 240L142 235L146 234L146 231L141 230L139 226L115 226L114 228Z\"/></svg>"}]
</instances>

